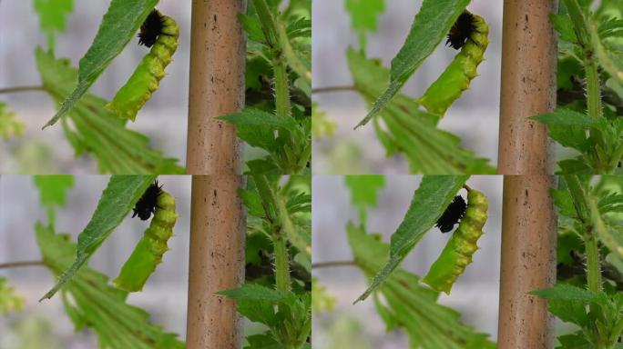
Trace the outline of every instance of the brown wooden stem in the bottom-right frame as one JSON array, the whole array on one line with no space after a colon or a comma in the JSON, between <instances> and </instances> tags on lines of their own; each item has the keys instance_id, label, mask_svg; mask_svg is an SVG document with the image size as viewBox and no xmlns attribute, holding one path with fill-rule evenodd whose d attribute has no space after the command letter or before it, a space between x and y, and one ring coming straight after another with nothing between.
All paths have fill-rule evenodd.
<instances>
[{"instance_id":1,"label":"brown wooden stem in the bottom-right frame","mask_svg":"<svg viewBox=\"0 0 623 349\"><path fill-rule=\"evenodd\" d=\"M527 294L556 283L557 214L553 175L506 175L498 346L552 348L554 318L546 301Z\"/></svg>"}]
</instances>

